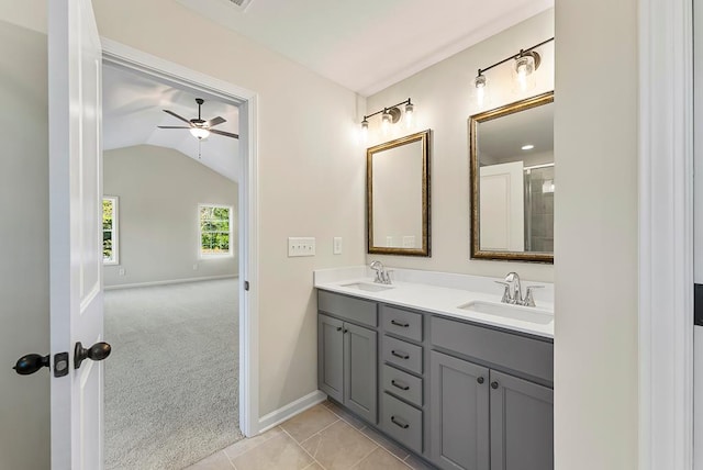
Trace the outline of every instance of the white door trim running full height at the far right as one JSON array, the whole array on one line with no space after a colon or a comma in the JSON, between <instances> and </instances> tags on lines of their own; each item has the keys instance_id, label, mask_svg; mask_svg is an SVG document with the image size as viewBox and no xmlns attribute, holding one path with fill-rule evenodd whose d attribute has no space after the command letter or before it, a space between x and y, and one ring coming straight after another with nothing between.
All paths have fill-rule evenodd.
<instances>
[{"instance_id":1,"label":"white door trim running full height at the far right","mask_svg":"<svg viewBox=\"0 0 703 470\"><path fill-rule=\"evenodd\" d=\"M638 468L691 470L693 1L638 0L637 7Z\"/></svg>"}]
</instances>

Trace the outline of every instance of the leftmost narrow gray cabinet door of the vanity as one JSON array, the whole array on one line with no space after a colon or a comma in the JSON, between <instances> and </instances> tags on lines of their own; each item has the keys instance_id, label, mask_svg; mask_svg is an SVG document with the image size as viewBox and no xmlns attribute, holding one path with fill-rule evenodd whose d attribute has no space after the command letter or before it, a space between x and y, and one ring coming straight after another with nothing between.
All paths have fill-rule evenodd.
<instances>
[{"instance_id":1,"label":"leftmost narrow gray cabinet door of the vanity","mask_svg":"<svg viewBox=\"0 0 703 470\"><path fill-rule=\"evenodd\" d=\"M317 315L317 387L344 402L344 324L327 315Z\"/></svg>"}]
</instances>

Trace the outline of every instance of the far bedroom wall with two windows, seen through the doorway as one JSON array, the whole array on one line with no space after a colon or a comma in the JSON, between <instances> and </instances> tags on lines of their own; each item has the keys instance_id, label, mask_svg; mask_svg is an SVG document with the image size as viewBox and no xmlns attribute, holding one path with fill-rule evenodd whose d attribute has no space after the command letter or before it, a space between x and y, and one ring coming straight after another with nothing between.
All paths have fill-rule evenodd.
<instances>
[{"instance_id":1,"label":"far bedroom wall with two windows, seen through the doorway","mask_svg":"<svg viewBox=\"0 0 703 470\"><path fill-rule=\"evenodd\" d=\"M104 267L105 287L237 273L237 183L150 145L105 152L103 175L104 194L119 198L120 265ZM200 203L233 208L233 256L199 259Z\"/></svg>"}]
</instances>

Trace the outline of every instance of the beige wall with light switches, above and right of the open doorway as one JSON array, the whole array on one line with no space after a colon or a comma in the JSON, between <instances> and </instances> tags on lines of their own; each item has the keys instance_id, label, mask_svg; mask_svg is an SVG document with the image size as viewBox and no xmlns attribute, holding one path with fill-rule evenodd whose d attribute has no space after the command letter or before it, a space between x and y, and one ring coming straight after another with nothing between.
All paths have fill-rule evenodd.
<instances>
[{"instance_id":1,"label":"beige wall with light switches, above and right of the open doorway","mask_svg":"<svg viewBox=\"0 0 703 470\"><path fill-rule=\"evenodd\" d=\"M357 142L364 100L174 0L94 0L93 9L102 36L258 93L260 278L253 289L259 293L260 415L315 391L312 271L365 262L365 157ZM46 31L46 2L2 2L0 18ZM4 57L44 64L9 44ZM9 179L10 190L46 191L16 174ZM317 255L288 258L288 236L316 237ZM334 236L343 238L343 255L332 254ZM36 334L47 338L47 327Z\"/></svg>"}]
</instances>

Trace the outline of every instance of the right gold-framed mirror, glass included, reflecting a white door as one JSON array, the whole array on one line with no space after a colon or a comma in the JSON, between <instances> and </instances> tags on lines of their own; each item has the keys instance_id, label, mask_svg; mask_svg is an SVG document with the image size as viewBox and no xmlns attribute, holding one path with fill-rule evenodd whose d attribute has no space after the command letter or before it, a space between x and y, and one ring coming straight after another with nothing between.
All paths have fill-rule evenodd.
<instances>
[{"instance_id":1,"label":"right gold-framed mirror, glass included, reflecting a white door","mask_svg":"<svg viewBox=\"0 0 703 470\"><path fill-rule=\"evenodd\" d=\"M471 258L554 262L554 91L469 118Z\"/></svg>"}]
</instances>

